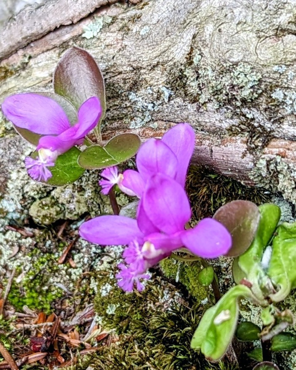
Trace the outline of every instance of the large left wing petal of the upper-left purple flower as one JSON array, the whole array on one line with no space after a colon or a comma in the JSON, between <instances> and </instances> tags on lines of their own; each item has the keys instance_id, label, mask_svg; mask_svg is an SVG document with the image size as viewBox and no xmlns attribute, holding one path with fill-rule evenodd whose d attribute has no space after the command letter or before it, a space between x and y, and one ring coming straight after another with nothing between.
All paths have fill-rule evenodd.
<instances>
[{"instance_id":1,"label":"large left wing petal of the upper-left purple flower","mask_svg":"<svg viewBox=\"0 0 296 370\"><path fill-rule=\"evenodd\" d=\"M70 127L63 108L53 99L42 95L11 95L4 100L1 109L14 125L36 134L58 135Z\"/></svg>"}]
</instances>

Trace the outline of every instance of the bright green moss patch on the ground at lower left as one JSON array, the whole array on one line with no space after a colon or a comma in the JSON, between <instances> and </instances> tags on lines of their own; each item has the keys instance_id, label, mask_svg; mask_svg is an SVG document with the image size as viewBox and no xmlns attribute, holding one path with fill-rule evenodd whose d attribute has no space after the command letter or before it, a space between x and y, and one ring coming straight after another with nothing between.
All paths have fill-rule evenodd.
<instances>
[{"instance_id":1,"label":"bright green moss patch on the ground at lower left","mask_svg":"<svg viewBox=\"0 0 296 370\"><path fill-rule=\"evenodd\" d=\"M60 273L61 265L57 264L52 254L43 253L37 248L28 254L28 258L31 268L24 273L20 282L13 280L8 300L19 311L26 305L30 309L50 313L53 300L64 296L63 290L53 284L54 275ZM17 272L20 274L22 271L17 268ZM50 283L50 279L53 279L53 283Z\"/></svg>"}]
</instances>

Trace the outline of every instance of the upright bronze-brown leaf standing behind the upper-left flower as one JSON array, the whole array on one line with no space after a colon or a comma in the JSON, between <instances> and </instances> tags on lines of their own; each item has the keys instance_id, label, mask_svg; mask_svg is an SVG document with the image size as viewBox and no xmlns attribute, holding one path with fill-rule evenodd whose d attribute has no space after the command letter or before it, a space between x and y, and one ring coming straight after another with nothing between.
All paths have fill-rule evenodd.
<instances>
[{"instance_id":1,"label":"upright bronze-brown leaf standing behind the upper-left flower","mask_svg":"<svg viewBox=\"0 0 296 370\"><path fill-rule=\"evenodd\" d=\"M88 98L98 97L103 119L106 110L104 78L87 51L78 47L68 50L55 68L53 84L54 91L68 99L77 110Z\"/></svg>"}]
</instances>

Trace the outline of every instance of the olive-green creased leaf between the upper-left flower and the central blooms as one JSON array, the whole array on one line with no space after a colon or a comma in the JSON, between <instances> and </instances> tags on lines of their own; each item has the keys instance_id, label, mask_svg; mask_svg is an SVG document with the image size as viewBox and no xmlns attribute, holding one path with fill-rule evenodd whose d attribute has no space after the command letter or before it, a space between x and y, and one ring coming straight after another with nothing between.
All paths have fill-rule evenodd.
<instances>
[{"instance_id":1,"label":"olive-green creased leaf between the upper-left flower and the central blooms","mask_svg":"<svg viewBox=\"0 0 296 370\"><path fill-rule=\"evenodd\" d=\"M141 144L136 134L117 135L107 142L105 147L91 145L79 156L78 163L87 169L100 169L114 166L131 158Z\"/></svg>"}]
</instances>

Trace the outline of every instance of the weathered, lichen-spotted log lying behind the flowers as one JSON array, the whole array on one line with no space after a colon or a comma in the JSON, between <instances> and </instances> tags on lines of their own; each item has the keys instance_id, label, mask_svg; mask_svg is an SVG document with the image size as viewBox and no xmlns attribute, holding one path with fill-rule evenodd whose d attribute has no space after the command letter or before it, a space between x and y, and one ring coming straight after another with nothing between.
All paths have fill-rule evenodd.
<instances>
[{"instance_id":1,"label":"weathered, lichen-spotted log lying behind the flowers","mask_svg":"<svg viewBox=\"0 0 296 370\"><path fill-rule=\"evenodd\" d=\"M196 131L195 162L295 202L294 7L295 0L108 6L3 60L1 100L52 89L61 54L72 45L86 48L106 80L106 139L127 130L160 136L187 121ZM97 37L81 37L103 14L112 22Z\"/></svg>"}]
</instances>

